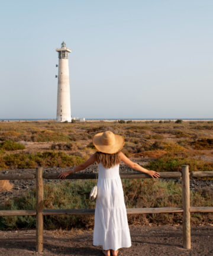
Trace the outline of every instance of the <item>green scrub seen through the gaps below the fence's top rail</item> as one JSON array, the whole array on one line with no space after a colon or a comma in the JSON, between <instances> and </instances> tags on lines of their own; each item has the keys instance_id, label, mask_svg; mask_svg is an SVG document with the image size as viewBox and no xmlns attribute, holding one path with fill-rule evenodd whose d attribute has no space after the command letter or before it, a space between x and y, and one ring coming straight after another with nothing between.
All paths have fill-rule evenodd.
<instances>
[{"instance_id":1,"label":"green scrub seen through the gaps below the fence's top rail","mask_svg":"<svg viewBox=\"0 0 213 256\"><path fill-rule=\"evenodd\" d=\"M89 199L93 180L63 181L62 184L44 185L45 209L94 209L95 201ZM127 208L140 207L182 207L181 184L174 181L123 179L124 199ZM192 206L212 206L211 190L191 191ZM0 209L35 209L35 190L27 191L21 197L11 199ZM193 225L212 223L213 215L194 213ZM44 216L45 229L93 228L93 215ZM132 225L179 225L182 214L128 215ZM9 216L0 218L0 229L35 228L35 216Z\"/></svg>"}]
</instances>

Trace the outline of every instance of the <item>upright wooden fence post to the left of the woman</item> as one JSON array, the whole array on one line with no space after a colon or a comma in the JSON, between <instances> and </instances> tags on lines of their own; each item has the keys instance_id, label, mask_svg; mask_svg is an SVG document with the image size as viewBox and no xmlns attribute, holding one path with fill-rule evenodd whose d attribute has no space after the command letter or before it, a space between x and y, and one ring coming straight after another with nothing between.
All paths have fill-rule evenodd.
<instances>
[{"instance_id":1,"label":"upright wooden fence post to the left of the woman","mask_svg":"<svg viewBox=\"0 0 213 256\"><path fill-rule=\"evenodd\" d=\"M43 168L36 168L36 251L43 251Z\"/></svg>"}]
</instances>

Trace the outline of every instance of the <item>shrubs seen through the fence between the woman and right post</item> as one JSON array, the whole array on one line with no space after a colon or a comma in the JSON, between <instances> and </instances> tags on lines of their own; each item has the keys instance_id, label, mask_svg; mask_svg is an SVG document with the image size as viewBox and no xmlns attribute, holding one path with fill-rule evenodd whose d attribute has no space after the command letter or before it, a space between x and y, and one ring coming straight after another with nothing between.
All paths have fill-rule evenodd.
<instances>
[{"instance_id":1,"label":"shrubs seen through the fence between the woman and right post","mask_svg":"<svg viewBox=\"0 0 213 256\"><path fill-rule=\"evenodd\" d=\"M181 186L173 181L153 181L149 179L123 180L127 208L177 207L181 205ZM133 225L165 225L180 223L181 214L128 215Z\"/></svg>"}]
</instances>

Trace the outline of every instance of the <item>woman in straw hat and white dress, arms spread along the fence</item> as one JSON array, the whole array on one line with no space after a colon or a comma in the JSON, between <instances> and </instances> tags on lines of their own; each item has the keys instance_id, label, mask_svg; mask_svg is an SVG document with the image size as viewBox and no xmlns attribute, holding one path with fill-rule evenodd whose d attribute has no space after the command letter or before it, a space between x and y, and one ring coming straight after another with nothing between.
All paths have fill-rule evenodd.
<instances>
[{"instance_id":1,"label":"woman in straw hat and white dress, arms spread along the fence","mask_svg":"<svg viewBox=\"0 0 213 256\"><path fill-rule=\"evenodd\" d=\"M119 248L131 247L124 191L119 174L120 162L137 171L145 172L152 178L158 178L160 175L159 172L149 171L128 159L121 152L124 138L120 135L106 131L96 134L92 142L98 151L73 170L59 174L59 178L66 178L70 173L82 171L94 162L98 163L93 245L102 245L106 256L110 256L110 252L116 256Z\"/></svg>"}]
</instances>

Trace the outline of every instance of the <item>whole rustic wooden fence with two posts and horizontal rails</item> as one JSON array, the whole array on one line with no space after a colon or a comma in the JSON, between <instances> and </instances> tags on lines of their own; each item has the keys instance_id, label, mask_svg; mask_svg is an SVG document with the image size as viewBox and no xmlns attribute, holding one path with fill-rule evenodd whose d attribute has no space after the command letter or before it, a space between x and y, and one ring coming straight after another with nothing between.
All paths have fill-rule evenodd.
<instances>
[{"instance_id":1,"label":"whole rustic wooden fence with two posts and horizontal rails","mask_svg":"<svg viewBox=\"0 0 213 256\"><path fill-rule=\"evenodd\" d=\"M43 216L44 215L92 215L95 209L43 209L43 178L58 179L59 174L43 172L42 167L34 174L0 174L0 180L33 180L36 179L36 209L35 210L0 210L0 216L36 216L36 251L43 251ZM121 178L151 178L147 174L120 174ZM160 178L182 178L182 207L162 208L131 208L127 214L144 213L183 213L183 248L191 249L190 214L194 212L213 212L213 207L191 207L189 177L213 177L213 171L189 172L188 165L182 165L181 172L160 172ZM94 179L95 173L76 173L66 179Z\"/></svg>"}]
</instances>

